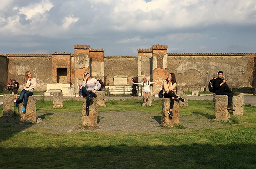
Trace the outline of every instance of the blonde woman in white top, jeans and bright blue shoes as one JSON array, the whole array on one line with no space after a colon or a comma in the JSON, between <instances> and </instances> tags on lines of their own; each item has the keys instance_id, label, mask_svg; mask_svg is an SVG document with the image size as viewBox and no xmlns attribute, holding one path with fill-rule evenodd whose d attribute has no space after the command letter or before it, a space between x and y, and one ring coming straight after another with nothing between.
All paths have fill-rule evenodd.
<instances>
[{"instance_id":1,"label":"blonde woman in white top, jeans and bright blue shoes","mask_svg":"<svg viewBox=\"0 0 256 169\"><path fill-rule=\"evenodd\" d=\"M16 107L18 107L19 103L22 103L23 100L23 108L22 112L23 114L26 113L26 107L28 103L28 97L33 95L34 88L37 87L37 79L32 78L32 75L29 71L25 73L25 79L24 79L25 87L24 89L20 92L19 98L16 100Z\"/></svg>"}]
</instances>

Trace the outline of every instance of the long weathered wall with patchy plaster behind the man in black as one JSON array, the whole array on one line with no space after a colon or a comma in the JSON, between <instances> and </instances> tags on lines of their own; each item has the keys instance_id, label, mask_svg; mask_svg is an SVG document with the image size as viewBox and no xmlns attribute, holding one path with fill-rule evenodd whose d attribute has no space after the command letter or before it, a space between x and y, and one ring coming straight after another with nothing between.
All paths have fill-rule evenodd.
<instances>
[{"instance_id":1,"label":"long weathered wall with patchy plaster behind the man in black","mask_svg":"<svg viewBox=\"0 0 256 169\"><path fill-rule=\"evenodd\" d=\"M180 90L208 89L208 83L219 70L230 88L252 87L255 81L255 54L210 53L168 54L167 74L175 73Z\"/></svg>"}]
</instances>

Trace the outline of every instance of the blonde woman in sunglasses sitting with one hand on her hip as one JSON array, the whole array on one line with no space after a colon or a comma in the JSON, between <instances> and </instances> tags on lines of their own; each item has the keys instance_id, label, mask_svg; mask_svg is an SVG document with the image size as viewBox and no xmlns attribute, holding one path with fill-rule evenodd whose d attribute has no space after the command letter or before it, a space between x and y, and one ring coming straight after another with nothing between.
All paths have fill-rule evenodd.
<instances>
[{"instance_id":1,"label":"blonde woman in sunglasses sitting with one hand on her hip","mask_svg":"<svg viewBox=\"0 0 256 169\"><path fill-rule=\"evenodd\" d=\"M82 95L86 97L86 115L88 116L89 106L93 103L93 97L97 97L95 92L101 88L101 84L96 79L91 78L89 72L84 72L83 78ZM95 84L98 85L96 89L94 89Z\"/></svg>"}]
</instances>

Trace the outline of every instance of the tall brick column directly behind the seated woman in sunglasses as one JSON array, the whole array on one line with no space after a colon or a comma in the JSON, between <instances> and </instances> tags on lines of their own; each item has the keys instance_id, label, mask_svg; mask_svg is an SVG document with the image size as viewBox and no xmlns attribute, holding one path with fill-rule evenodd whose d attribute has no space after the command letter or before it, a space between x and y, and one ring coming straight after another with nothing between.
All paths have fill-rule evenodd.
<instances>
[{"instance_id":1,"label":"tall brick column directly behind the seated woman in sunglasses","mask_svg":"<svg viewBox=\"0 0 256 169\"><path fill-rule=\"evenodd\" d=\"M90 72L90 45L75 45L74 50L74 79L75 93L79 94L79 84L83 82L83 73Z\"/></svg>"}]
</instances>

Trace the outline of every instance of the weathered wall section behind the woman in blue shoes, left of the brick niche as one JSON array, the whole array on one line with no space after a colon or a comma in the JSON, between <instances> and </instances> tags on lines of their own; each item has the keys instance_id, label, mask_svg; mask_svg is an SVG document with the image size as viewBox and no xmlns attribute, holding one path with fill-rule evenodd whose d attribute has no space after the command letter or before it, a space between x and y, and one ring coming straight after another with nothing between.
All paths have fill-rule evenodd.
<instances>
[{"instance_id":1,"label":"weathered wall section behind the woman in blue shoes, left of the brick niche","mask_svg":"<svg viewBox=\"0 0 256 169\"><path fill-rule=\"evenodd\" d=\"M8 78L16 79L20 90L24 87L24 75L30 71L37 79L35 91L46 90L47 83L52 83L52 54L6 54L9 59Z\"/></svg>"}]
</instances>

